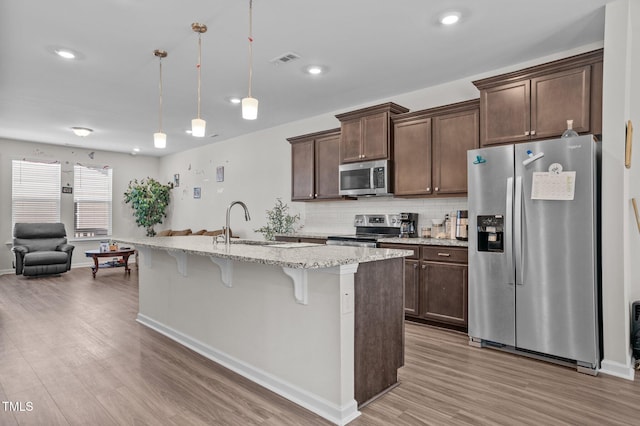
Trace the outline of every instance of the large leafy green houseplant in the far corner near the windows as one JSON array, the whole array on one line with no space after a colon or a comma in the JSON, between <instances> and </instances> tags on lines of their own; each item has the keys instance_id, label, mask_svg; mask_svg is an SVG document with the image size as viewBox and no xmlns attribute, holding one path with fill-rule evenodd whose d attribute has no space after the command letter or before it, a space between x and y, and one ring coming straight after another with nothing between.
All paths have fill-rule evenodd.
<instances>
[{"instance_id":1,"label":"large leafy green houseplant in the far corner near the windows","mask_svg":"<svg viewBox=\"0 0 640 426\"><path fill-rule=\"evenodd\" d=\"M124 202L131 204L136 224L147 230L147 237L156 235L153 227L162 223L167 217L167 206L171 199L173 184L161 184L157 180L147 177L138 182L138 179L129 181L129 186L124 193Z\"/></svg>"}]
</instances>

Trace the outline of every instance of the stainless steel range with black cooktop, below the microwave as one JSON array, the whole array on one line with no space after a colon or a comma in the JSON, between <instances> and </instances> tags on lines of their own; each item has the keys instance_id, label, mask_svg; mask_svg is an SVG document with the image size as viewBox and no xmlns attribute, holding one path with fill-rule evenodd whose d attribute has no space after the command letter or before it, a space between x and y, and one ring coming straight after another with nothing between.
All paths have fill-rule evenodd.
<instances>
[{"instance_id":1,"label":"stainless steel range with black cooktop, below the microwave","mask_svg":"<svg viewBox=\"0 0 640 426\"><path fill-rule=\"evenodd\" d=\"M353 219L356 233L331 235L327 245L377 247L382 238L416 236L418 214L357 214Z\"/></svg>"}]
</instances>

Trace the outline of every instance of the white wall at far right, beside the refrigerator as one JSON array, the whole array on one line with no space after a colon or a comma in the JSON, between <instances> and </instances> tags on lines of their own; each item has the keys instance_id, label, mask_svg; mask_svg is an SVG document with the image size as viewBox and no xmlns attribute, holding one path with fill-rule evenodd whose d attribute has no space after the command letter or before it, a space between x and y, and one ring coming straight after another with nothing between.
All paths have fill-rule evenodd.
<instances>
[{"instance_id":1,"label":"white wall at far right, beside the refrigerator","mask_svg":"<svg viewBox=\"0 0 640 426\"><path fill-rule=\"evenodd\" d=\"M633 35L635 29L635 36ZM621 376L629 371L629 307L640 296L639 233L631 197L639 197L638 155L632 169L624 166L625 124L640 123L640 7L629 0L609 3L606 9L602 235L603 368ZM637 132L636 132L637 134ZM637 139L637 137L636 137ZM637 151L637 149L636 149Z\"/></svg>"}]
</instances>

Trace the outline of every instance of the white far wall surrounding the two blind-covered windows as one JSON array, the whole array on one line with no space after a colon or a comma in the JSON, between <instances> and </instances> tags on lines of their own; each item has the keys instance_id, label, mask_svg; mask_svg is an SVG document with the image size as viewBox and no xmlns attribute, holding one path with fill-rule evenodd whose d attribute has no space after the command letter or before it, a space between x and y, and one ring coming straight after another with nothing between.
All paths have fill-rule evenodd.
<instances>
[{"instance_id":1,"label":"white far wall surrounding the two blind-covered windows","mask_svg":"<svg viewBox=\"0 0 640 426\"><path fill-rule=\"evenodd\" d=\"M89 153L94 152L93 159ZM131 156L78 147L46 145L33 142L0 139L0 273L13 273L11 242L11 161L59 161L62 165L61 186L73 186L73 166L110 166L113 168L113 233L114 235L144 235L138 228L131 207L122 201L129 181L147 176L156 177L160 161L155 157ZM73 235L73 194L61 194L60 216L67 235ZM70 238L73 240L73 238ZM73 264L88 264L84 251L97 248L98 241L72 241L75 245Z\"/></svg>"}]
</instances>

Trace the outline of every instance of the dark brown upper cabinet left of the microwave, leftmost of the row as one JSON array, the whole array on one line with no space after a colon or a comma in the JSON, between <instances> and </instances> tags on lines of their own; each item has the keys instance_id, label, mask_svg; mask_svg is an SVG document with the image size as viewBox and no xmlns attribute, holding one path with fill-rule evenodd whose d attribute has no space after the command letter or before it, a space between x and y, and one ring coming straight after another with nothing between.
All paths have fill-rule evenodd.
<instances>
[{"instance_id":1,"label":"dark brown upper cabinet left of the microwave, leftmost of the row","mask_svg":"<svg viewBox=\"0 0 640 426\"><path fill-rule=\"evenodd\" d=\"M340 199L340 129L287 140L291 143L291 201Z\"/></svg>"}]
</instances>

